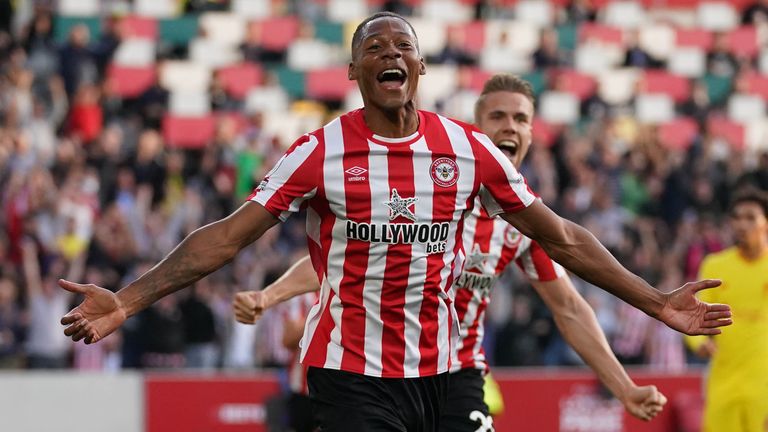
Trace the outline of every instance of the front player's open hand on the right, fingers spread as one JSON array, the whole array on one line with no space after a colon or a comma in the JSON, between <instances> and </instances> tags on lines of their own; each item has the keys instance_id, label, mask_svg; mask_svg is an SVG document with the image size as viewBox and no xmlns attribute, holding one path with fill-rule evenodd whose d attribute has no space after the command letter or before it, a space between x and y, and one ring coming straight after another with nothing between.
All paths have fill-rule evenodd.
<instances>
[{"instance_id":1,"label":"front player's open hand on the right, fingers spread","mask_svg":"<svg viewBox=\"0 0 768 432\"><path fill-rule=\"evenodd\" d=\"M705 303L696 293L720 286L716 279L688 282L681 288L665 294L666 303L659 313L659 320L687 335L716 335L723 327L733 324L731 307L726 304Z\"/></svg>"}]
</instances>

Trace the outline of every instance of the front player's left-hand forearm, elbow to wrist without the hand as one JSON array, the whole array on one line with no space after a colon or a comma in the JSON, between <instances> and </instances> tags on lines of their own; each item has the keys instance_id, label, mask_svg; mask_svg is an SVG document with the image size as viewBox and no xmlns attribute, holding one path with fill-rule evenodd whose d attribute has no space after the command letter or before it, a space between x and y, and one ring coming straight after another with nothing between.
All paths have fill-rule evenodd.
<instances>
[{"instance_id":1,"label":"front player's left-hand forearm, elbow to wrist without the hand","mask_svg":"<svg viewBox=\"0 0 768 432\"><path fill-rule=\"evenodd\" d=\"M135 315L231 261L241 245L223 240L220 231L219 223L195 230L152 269L118 291L126 316Z\"/></svg>"}]
</instances>

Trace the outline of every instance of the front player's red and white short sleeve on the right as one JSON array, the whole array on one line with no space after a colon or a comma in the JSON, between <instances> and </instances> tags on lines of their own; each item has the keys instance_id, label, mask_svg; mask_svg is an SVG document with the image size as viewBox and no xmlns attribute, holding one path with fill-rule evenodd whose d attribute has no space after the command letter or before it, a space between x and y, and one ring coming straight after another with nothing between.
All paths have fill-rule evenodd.
<instances>
[{"instance_id":1,"label":"front player's red and white short sleeve on the right","mask_svg":"<svg viewBox=\"0 0 768 432\"><path fill-rule=\"evenodd\" d=\"M490 138L479 131L472 135L477 147L480 200L488 214L514 213L531 205L536 196L523 175Z\"/></svg>"}]
</instances>

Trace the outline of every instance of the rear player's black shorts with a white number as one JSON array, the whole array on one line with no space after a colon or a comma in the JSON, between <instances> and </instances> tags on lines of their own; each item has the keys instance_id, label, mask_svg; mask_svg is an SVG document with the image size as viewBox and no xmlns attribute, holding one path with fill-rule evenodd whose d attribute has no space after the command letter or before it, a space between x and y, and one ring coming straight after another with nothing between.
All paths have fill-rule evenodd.
<instances>
[{"instance_id":1,"label":"rear player's black shorts with a white number","mask_svg":"<svg viewBox=\"0 0 768 432\"><path fill-rule=\"evenodd\" d=\"M483 371L461 369L450 374L448 403L440 420L441 432L493 432L483 391Z\"/></svg>"}]
</instances>

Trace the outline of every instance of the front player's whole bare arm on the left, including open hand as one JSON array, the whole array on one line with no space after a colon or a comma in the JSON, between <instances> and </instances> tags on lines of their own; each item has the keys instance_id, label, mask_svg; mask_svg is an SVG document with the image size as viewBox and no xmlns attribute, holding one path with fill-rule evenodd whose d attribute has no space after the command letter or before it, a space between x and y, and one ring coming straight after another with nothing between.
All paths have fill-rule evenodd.
<instances>
[{"instance_id":1,"label":"front player's whole bare arm on the left, including open hand","mask_svg":"<svg viewBox=\"0 0 768 432\"><path fill-rule=\"evenodd\" d=\"M246 202L230 216L195 230L165 259L126 287L112 293L93 284L60 280L62 288L85 295L83 303L61 319L64 334L97 342L128 317L230 262L237 253L277 223L271 213Z\"/></svg>"}]
</instances>

